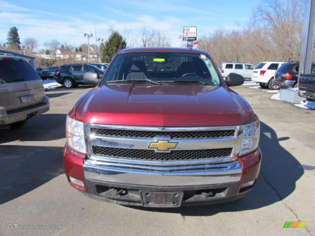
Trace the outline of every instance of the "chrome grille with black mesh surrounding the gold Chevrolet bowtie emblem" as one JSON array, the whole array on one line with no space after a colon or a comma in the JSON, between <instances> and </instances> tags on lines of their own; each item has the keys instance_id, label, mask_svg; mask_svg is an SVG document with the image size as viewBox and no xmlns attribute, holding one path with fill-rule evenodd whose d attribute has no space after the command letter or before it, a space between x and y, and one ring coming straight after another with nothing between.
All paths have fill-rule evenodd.
<instances>
[{"instance_id":1,"label":"chrome grille with black mesh surrounding the gold Chevrolet bowtie emblem","mask_svg":"<svg viewBox=\"0 0 315 236\"><path fill-rule=\"evenodd\" d=\"M105 169L180 172L182 168L193 171L213 168L207 165L233 162L240 151L242 127L84 124L84 135L91 165L102 163ZM149 148L151 143L160 140L177 143L177 146L169 151Z\"/></svg>"}]
</instances>

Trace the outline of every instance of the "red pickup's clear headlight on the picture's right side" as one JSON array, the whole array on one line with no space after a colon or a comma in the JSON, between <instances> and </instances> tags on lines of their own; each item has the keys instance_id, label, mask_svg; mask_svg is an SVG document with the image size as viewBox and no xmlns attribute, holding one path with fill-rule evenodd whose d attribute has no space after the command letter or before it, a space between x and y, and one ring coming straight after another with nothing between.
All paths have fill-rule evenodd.
<instances>
[{"instance_id":1,"label":"red pickup's clear headlight on the picture's right side","mask_svg":"<svg viewBox=\"0 0 315 236\"><path fill-rule=\"evenodd\" d=\"M257 149L259 134L259 120L243 126L243 140L240 156L249 154Z\"/></svg>"}]
</instances>

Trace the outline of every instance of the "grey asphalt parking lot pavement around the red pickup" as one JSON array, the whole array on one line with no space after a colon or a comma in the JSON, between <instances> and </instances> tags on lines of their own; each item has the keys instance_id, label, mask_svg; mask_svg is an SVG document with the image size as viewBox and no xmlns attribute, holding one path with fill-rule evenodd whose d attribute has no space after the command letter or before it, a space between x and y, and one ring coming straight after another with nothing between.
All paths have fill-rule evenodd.
<instances>
[{"instance_id":1,"label":"grey asphalt parking lot pavement around the red pickup","mask_svg":"<svg viewBox=\"0 0 315 236\"><path fill-rule=\"evenodd\" d=\"M249 87L253 84L234 90L261 121L257 186L234 202L175 209L115 205L73 189L62 161L66 114L91 87L46 92L49 112L19 130L0 131L0 235L315 235L315 112ZM307 223L283 228L286 221ZM62 229L9 229L8 224Z\"/></svg>"}]
</instances>

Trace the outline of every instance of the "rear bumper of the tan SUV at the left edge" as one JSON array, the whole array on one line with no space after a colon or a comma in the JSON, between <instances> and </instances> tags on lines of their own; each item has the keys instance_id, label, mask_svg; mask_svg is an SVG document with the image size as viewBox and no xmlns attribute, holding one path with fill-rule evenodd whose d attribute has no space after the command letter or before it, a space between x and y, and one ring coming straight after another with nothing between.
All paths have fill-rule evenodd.
<instances>
[{"instance_id":1,"label":"rear bumper of the tan SUV at the left edge","mask_svg":"<svg viewBox=\"0 0 315 236\"><path fill-rule=\"evenodd\" d=\"M33 115L39 115L49 110L49 98L45 95L44 102L29 107L8 111L0 106L0 125L8 125L19 121L24 121Z\"/></svg>"}]
</instances>

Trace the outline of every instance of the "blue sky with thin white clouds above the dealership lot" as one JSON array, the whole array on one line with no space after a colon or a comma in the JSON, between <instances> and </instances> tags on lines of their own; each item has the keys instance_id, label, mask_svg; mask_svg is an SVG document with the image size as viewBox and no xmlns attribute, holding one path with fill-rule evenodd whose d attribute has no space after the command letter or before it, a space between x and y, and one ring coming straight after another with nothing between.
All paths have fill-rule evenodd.
<instances>
[{"instance_id":1,"label":"blue sky with thin white clouds above the dealership lot","mask_svg":"<svg viewBox=\"0 0 315 236\"><path fill-rule=\"evenodd\" d=\"M6 43L10 27L18 28L20 41L34 37L43 43L57 39L73 46L87 43L84 33L93 33L90 43L110 35L111 27L129 39L140 28L163 32L171 46L181 45L184 26L197 27L197 39L218 27L238 29L249 22L259 0L120 0L39 1L0 0L0 42ZM128 39L128 38L127 38Z\"/></svg>"}]
</instances>

